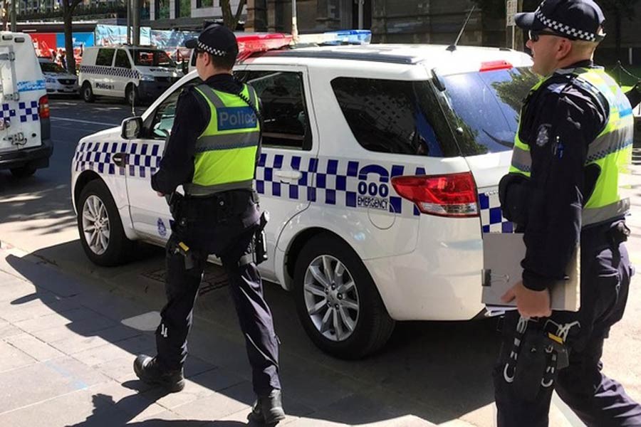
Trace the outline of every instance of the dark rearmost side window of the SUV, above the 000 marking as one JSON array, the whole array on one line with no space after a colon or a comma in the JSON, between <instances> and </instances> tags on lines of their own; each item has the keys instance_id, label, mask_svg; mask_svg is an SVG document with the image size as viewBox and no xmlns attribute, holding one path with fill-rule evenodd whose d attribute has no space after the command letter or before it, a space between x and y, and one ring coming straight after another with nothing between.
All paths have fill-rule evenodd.
<instances>
[{"instance_id":1,"label":"dark rearmost side window of the SUV, above the 000 marking","mask_svg":"<svg viewBox=\"0 0 641 427\"><path fill-rule=\"evenodd\" d=\"M429 157L459 155L427 81L340 77L331 84L363 148Z\"/></svg>"}]
</instances>

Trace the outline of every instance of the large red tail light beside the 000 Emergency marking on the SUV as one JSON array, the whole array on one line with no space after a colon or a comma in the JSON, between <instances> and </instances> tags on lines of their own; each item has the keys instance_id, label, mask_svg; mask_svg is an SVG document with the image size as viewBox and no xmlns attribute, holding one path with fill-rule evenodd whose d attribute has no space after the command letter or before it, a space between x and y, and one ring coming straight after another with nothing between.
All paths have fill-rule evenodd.
<instances>
[{"instance_id":1,"label":"large red tail light beside the 000 Emergency marking on the SUV","mask_svg":"<svg viewBox=\"0 0 641 427\"><path fill-rule=\"evenodd\" d=\"M478 216L476 184L470 172L446 175L395 176L392 186L423 214Z\"/></svg>"}]
</instances>

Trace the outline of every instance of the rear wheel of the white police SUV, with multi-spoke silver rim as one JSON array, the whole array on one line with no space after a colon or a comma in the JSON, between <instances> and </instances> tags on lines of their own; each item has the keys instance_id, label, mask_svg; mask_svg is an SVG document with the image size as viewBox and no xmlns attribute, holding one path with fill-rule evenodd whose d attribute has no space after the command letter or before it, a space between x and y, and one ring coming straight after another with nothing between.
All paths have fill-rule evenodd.
<instances>
[{"instance_id":1,"label":"rear wheel of the white police SUV, with multi-spoke silver rim","mask_svg":"<svg viewBox=\"0 0 641 427\"><path fill-rule=\"evenodd\" d=\"M359 359L390 338L395 322L347 243L325 234L308 241L296 260L294 283L298 317L323 352Z\"/></svg>"}]
</instances>

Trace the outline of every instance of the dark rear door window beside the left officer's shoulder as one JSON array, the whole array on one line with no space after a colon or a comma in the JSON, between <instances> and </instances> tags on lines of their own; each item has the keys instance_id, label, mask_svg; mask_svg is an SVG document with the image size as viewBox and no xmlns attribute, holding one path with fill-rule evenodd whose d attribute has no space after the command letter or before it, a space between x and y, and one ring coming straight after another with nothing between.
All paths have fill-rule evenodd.
<instances>
[{"instance_id":1,"label":"dark rear door window beside the left officer's shoulder","mask_svg":"<svg viewBox=\"0 0 641 427\"><path fill-rule=\"evenodd\" d=\"M311 149L302 73L249 70L236 78L249 83L261 99L264 147Z\"/></svg>"}]
</instances>

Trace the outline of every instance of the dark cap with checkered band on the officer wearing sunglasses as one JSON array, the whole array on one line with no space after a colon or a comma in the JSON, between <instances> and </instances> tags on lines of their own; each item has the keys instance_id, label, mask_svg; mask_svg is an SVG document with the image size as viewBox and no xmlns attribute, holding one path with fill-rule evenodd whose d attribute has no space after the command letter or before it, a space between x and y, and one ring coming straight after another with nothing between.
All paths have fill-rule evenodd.
<instances>
[{"instance_id":1,"label":"dark cap with checkered band on the officer wearing sunglasses","mask_svg":"<svg viewBox=\"0 0 641 427\"><path fill-rule=\"evenodd\" d=\"M514 15L525 30L551 30L572 40L601 41L605 16L593 0L543 0L536 11Z\"/></svg>"}]
</instances>

